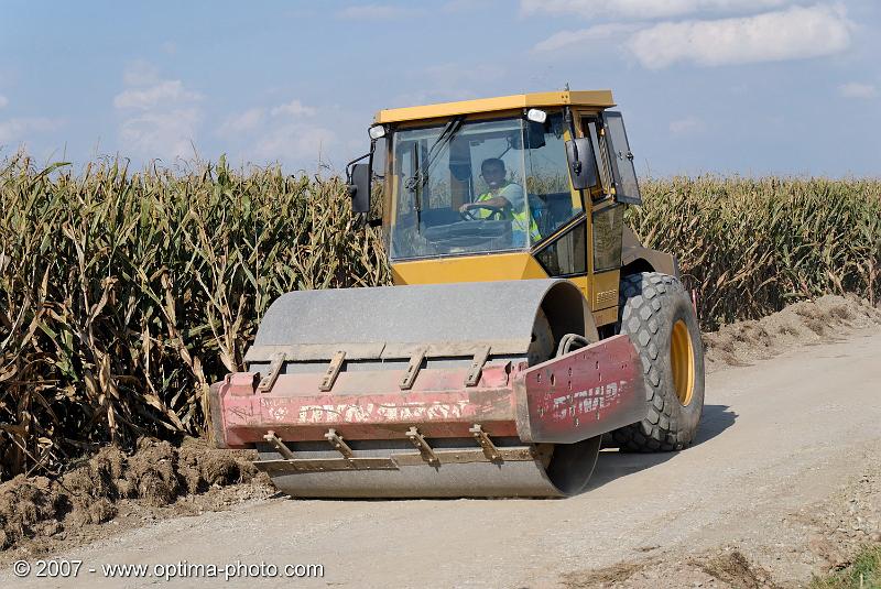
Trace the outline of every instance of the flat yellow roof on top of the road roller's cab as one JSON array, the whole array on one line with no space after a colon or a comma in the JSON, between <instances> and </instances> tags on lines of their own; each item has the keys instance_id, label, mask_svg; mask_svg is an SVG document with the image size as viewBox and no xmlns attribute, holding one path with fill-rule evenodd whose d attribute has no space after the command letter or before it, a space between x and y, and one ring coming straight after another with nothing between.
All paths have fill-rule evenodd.
<instances>
[{"instance_id":1,"label":"flat yellow roof on top of the road roller's cab","mask_svg":"<svg viewBox=\"0 0 881 589\"><path fill-rule=\"evenodd\" d=\"M496 110L559 106L603 109L613 107L614 101L612 100L611 90L557 90L554 92L515 94L512 96L499 96L497 98L479 98L477 100L461 100L459 102L439 102L437 105L425 105L422 107L380 110L377 112L373 121L376 123L390 123L455 117L457 114L474 114L477 112L492 112Z\"/></svg>"}]
</instances>

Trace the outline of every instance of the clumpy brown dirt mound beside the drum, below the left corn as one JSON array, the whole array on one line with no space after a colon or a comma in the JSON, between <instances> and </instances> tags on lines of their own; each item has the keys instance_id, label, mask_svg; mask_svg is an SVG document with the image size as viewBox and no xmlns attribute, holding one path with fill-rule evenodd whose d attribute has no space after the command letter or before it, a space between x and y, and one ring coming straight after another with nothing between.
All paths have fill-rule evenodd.
<instances>
[{"instance_id":1,"label":"clumpy brown dirt mound beside the drum, below the left corn","mask_svg":"<svg viewBox=\"0 0 881 589\"><path fill-rule=\"evenodd\" d=\"M180 447L143 438L132 454L101 448L57 480L19 476L0 484L0 550L107 522L122 503L166 508L224 487L252 481L268 487L263 477L258 479L252 455L213 449L192 438ZM211 509L210 501L191 503L184 511Z\"/></svg>"}]
</instances>

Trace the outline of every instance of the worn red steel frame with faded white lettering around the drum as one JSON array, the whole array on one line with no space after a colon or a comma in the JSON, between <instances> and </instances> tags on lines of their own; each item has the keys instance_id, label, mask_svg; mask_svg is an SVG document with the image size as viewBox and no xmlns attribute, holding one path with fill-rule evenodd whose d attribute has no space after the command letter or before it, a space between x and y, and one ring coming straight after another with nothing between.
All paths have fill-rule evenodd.
<instances>
[{"instance_id":1,"label":"worn red steel frame with faded white lettering around the drum","mask_svg":"<svg viewBox=\"0 0 881 589\"><path fill-rule=\"evenodd\" d=\"M285 441L324 440L330 428L346 439L405 439L412 426L428 438L469 438L475 424L489 436L573 444L642 418L640 367L629 338L614 336L532 368L486 366L475 386L465 386L463 367L423 369L406 391L399 371L377 370L342 371L330 392L320 391L323 374L280 374L261 393L259 373L238 372L213 386L211 406L228 448L269 430Z\"/></svg>"}]
</instances>

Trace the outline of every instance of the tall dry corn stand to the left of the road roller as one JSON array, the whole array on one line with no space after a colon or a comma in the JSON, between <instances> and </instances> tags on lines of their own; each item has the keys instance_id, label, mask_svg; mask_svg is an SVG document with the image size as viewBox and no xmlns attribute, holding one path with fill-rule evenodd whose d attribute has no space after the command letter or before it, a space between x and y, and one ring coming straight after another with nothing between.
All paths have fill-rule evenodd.
<instances>
[{"instance_id":1,"label":"tall dry corn stand to the left of the road roller","mask_svg":"<svg viewBox=\"0 0 881 589\"><path fill-rule=\"evenodd\" d=\"M0 478L96 445L203 429L207 388L242 368L292 290L388 281L339 179L0 168Z\"/></svg>"}]
</instances>

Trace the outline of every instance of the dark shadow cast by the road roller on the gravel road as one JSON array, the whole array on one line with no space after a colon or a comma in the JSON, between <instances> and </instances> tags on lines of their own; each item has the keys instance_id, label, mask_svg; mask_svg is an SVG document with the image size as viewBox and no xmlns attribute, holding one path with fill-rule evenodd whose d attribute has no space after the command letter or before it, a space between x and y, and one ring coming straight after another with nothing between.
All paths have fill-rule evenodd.
<instances>
[{"instance_id":1,"label":"dark shadow cast by the road roller on the gravel road","mask_svg":"<svg viewBox=\"0 0 881 589\"><path fill-rule=\"evenodd\" d=\"M737 419L737 414L728 405L704 405L700 428L694 445L697 446L715 438L733 425L735 419ZM603 450L599 452L597 468L594 470L587 490L598 489L607 482L666 462L676 456L678 452L635 454Z\"/></svg>"}]
</instances>

